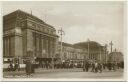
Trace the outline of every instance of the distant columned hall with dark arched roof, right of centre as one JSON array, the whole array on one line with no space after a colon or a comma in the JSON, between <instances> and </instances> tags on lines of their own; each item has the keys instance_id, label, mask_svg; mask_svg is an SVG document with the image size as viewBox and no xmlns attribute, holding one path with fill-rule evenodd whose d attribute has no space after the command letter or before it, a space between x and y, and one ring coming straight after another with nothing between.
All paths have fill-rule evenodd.
<instances>
[{"instance_id":1,"label":"distant columned hall with dark arched roof, right of centre","mask_svg":"<svg viewBox=\"0 0 128 82\"><path fill-rule=\"evenodd\" d=\"M108 52L106 46L100 45L95 41L80 42L74 44L74 46L87 50L86 59L107 62Z\"/></svg>"}]
</instances>

